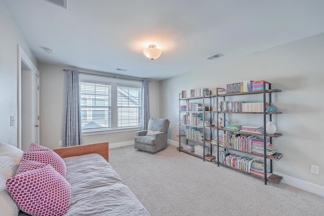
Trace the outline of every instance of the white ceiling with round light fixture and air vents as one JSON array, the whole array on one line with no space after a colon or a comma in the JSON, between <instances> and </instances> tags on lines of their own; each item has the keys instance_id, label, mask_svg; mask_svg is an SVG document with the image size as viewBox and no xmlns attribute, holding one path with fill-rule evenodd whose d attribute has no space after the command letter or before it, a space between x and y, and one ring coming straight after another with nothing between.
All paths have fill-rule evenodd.
<instances>
[{"instance_id":1,"label":"white ceiling with round light fixture and air vents","mask_svg":"<svg viewBox=\"0 0 324 216\"><path fill-rule=\"evenodd\" d=\"M0 1L39 62L156 80L324 32L323 0Z\"/></svg>"}]
</instances>

